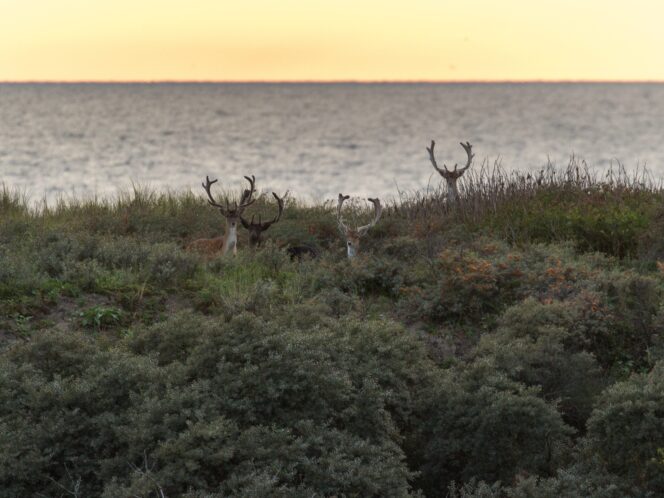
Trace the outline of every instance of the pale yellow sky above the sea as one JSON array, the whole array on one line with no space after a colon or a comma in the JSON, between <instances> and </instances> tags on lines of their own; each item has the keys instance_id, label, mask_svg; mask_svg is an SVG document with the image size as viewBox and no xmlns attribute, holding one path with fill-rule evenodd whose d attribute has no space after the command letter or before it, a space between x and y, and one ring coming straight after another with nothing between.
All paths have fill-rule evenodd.
<instances>
[{"instance_id":1,"label":"pale yellow sky above the sea","mask_svg":"<svg viewBox=\"0 0 664 498\"><path fill-rule=\"evenodd\" d=\"M0 0L0 81L658 80L661 0Z\"/></svg>"}]
</instances>

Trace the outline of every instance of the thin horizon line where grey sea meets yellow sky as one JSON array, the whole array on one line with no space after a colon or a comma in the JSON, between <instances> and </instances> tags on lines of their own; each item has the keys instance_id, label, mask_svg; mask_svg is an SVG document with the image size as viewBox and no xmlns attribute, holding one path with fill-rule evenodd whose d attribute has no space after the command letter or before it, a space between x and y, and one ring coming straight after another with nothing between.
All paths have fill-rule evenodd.
<instances>
[{"instance_id":1,"label":"thin horizon line where grey sea meets yellow sky","mask_svg":"<svg viewBox=\"0 0 664 498\"><path fill-rule=\"evenodd\" d=\"M81 79L81 80L0 80L0 84L33 84L33 85L47 85L47 84L356 84L356 85L375 85L375 84L664 84L664 79L468 79L468 80L434 80L434 79L376 79L376 80L362 80L362 79L275 79L275 80L215 80L215 79L155 79L155 80L131 80L131 79L118 79L118 80L96 80L96 79Z\"/></svg>"}]
</instances>

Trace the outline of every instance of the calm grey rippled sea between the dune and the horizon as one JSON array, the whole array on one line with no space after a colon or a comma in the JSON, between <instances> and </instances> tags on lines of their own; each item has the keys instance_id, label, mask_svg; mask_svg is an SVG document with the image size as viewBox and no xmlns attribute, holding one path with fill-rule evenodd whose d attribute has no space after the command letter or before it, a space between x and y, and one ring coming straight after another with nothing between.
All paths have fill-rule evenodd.
<instances>
[{"instance_id":1,"label":"calm grey rippled sea between the dune and the horizon","mask_svg":"<svg viewBox=\"0 0 664 498\"><path fill-rule=\"evenodd\" d=\"M33 200L132 181L326 199L437 185L439 162L536 170L570 155L664 176L662 84L2 84L0 182Z\"/></svg>"}]
</instances>

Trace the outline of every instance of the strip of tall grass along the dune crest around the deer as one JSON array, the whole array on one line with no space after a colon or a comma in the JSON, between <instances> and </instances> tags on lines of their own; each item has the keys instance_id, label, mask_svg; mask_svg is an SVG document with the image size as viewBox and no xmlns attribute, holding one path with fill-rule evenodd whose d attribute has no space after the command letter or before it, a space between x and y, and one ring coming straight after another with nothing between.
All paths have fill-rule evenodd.
<instances>
[{"instance_id":1,"label":"strip of tall grass along the dune crest around the deer","mask_svg":"<svg viewBox=\"0 0 664 498\"><path fill-rule=\"evenodd\" d=\"M584 251L632 256L636 239L658 219L664 201L662 183L645 168L628 172L617 163L600 172L575 157L566 167L549 163L535 173L507 171L499 162L485 161L468 170L459 187L460 198L455 203L449 202L446 189L441 187L399 192L395 200L385 202L383 220L372 230L372 238L427 238L462 225L470 231L491 232L511 243L572 240ZM220 191L219 195L232 197L233 192ZM260 195L245 214L262 213L267 219L275 209L271 196ZM225 225L202 192L157 192L140 185L115 198L62 197L33 208L25 193L3 186L0 210L5 219L12 215L23 225L38 220L53 231L141 235L151 242L181 245L195 238L218 236ZM344 205L348 224L365 224L372 216L367 202L355 200ZM244 245L243 232L240 237ZM281 221L268 237L280 245L335 247L339 242L336 200L308 204L289 198Z\"/></svg>"}]
</instances>

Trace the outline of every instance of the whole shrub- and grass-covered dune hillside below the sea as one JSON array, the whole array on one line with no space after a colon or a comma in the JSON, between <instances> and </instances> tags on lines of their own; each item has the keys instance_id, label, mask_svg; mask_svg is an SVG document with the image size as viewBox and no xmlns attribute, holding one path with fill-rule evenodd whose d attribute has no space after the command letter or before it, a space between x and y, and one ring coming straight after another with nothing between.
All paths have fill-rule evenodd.
<instances>
[{"instance_id":1,"label":"whole shrub- and grass-covered dune hillside below the sea","mask_svg":"<svg viewBox=\"0 0 664 498\"><path fill-rule=\"evenodd\" d=\"M209 258L203 192L0 188L0 498L664 496L664 190L462 180L353 260L331 202Z\"/></svg>"}]
</instances>

